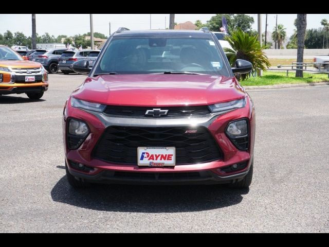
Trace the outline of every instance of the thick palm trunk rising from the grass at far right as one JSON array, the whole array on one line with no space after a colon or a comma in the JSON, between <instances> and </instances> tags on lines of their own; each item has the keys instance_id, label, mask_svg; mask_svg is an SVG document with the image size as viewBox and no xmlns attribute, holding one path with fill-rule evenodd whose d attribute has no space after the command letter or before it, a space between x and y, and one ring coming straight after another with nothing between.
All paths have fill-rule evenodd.
<instances>
[{"instance_id":1,"label":"thick palm trunk rising from the grass at far right","mask_svg":"<svg viewBox=\"0 0 329 247\"><path fill-rule=\"evenodd\" d=\"M297 62L302 63L304 59L304 45L306 32L306 14L297 14ZM297 68L303 68L298 66ZM296 77L303 77L303 70L296 70Z\"/></svg>"}]
</instances>

